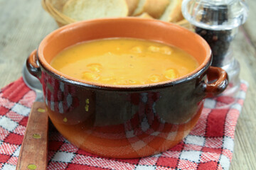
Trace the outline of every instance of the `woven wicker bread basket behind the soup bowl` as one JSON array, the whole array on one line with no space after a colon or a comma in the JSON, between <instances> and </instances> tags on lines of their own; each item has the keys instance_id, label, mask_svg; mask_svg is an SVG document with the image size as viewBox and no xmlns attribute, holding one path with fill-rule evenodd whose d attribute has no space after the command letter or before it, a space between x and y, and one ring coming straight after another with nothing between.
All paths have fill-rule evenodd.
<instances>
[{"instance_id":1,"label":"woven wicker bread basket behind the soup bowl","mask_svg":"<svg viewBox=\"0 0 256 170\"><path fill-rule=\"evenodd\" d=\"M61 11L63 6L68 0L42 0L42 6L43 8L50 13L50 16L52 16L59 27L65 26L70 23L75 23L76 21L73 18L70 18L68 16L65 16ZM186 21L185 19L178 21L176 23L179 26L182 26L184 28L188 28L191 30L191 25Z\"/></svg>"}]
</instances>

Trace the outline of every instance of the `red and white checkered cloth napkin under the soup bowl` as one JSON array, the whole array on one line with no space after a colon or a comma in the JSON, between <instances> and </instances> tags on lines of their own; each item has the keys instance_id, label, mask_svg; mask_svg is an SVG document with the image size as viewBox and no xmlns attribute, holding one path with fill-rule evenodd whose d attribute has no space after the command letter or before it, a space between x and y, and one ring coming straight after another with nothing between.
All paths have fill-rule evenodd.
<instances>
[{"instance_id":1,"label":"red and white checkered cloth napkin under the soup bowl","mask_svg":"<svg viewBox=\"0 0 256 170\"><path fill-rule=\"evenodd\" d=\"M203 113L191 133L178 145L142 159L97 157L70 144L50 127L48 169L228 169L234 147L235 125L245 99L242 81L235 98L206 99ZM0 169L16 168L18 154L36 94L20 78L0 91Z\"/></svg>"}]
</instances>

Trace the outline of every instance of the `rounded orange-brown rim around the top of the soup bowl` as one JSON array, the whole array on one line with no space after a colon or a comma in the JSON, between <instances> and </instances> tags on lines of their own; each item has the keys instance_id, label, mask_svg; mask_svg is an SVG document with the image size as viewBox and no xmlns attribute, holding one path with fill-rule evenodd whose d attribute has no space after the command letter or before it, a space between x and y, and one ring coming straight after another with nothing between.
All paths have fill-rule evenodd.
<instances>
[{"instance_id":1,"label":"rounded orange-brown rim around the top of the soup bowl","mask_svg":"<svg viewBox=\"0 0 256 170\"><path fill-rule=\"evenodd\" d=\"M74 77L70 77L66 74L63 74L62 72L59 72L58 70L54 69L53 67L46 62L46 59L43 57L43 47L45 44L48 42L48 40L55 34L59 32L64 32L64 30L67 29L74 29L77 27L80 27L83 24L90 24L90 23L101 23L102 21L110 21L110 22L118 22L118 21L134 21L134 22L149 22L149 23L161 23L161 25L165 26L172 26L172 27L178 27L184 33L191 34L193 33L191 30L188 30L186 28L183 28L181 26L178 26L174 23L167 23L164 21L159 21L159 20L151 20L151 19L145 19L145 18L135 18L135 17L129 17L129 18L99 18L99 19L93 19L93 20L88 20L88 21L78 21L76 23L71 23L69 25L63 26L61 28L58 28L54 30L53 32L49 33L46 35L46 37L41 41L40 45L38 46L37 50L37 56L38 56L38 64L43 67L43 69L48 72L48 74L52 75L53 77L56 77L58 79L61 79L62 81L65 81L69 84L75 85L75 86L86 86L92 89L109 89L109 90L118 90L118 91L141 91L141 90L146 90L146 89L159 89L161 87L166 87L166 86L174 86L176 84L181 84L185 83L187 81L190 81L191 79L195 79L196 77L200 76L203 74L203 72L206 72L208 67L210 67L210 64L212 62L212 52L210 50L210 46L204 40L201 38L200 35L196 35L196 33L193 33L196 35L196 38L200 40L203 43L203 46L207 47L208 50L206 50L206 58L203 60L202 64L200 64L196 69L193 70L193 72L190 72L189 74L184 75L183 77L178 77L176 79L172 79L169 81L160 81L157 83L153 84L135 84L135 85L114 85L114 84L100 84L100 83L95 83L91 81L85 81L82 79L77 79Z\"/></svg>"}]
</instances>

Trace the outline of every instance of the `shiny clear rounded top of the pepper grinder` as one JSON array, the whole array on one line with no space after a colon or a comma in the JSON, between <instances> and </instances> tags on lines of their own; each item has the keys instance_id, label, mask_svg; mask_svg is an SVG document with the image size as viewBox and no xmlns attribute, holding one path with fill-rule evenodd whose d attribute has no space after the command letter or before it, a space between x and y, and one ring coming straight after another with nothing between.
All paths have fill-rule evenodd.
<instances>
[{"instance_id":1,"label":"shiny clear rounded top of the pepper grinder","mask_svg":"<svg viewBox=\"0 0 256 170\"><path fill-rule=\"evenodd\" d=\"M245 0L183 0L182 13L193 26L230 30L245 23L249 8Z\"/></svg>"}]
</instances>

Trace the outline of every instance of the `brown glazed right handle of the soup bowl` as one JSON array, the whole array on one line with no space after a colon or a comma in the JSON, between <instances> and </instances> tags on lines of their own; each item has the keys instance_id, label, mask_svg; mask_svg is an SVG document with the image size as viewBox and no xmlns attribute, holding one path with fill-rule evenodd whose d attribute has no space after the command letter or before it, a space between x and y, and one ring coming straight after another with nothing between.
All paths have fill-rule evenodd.
<instances>
[{"instance_id":1,"label":"brown glazed right handle of the soup bowl","mask_svg":"<svg viewBox=\"0 0 256 170\"><path fill-rule=\"evenodd\" d=\"M203 83L206 98L217 96L227 88L228 74L224 69L210 66L206 75L208 83Z\"/></svg>"}]
</instances>

